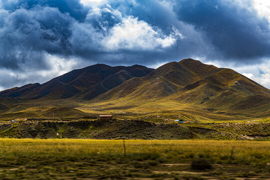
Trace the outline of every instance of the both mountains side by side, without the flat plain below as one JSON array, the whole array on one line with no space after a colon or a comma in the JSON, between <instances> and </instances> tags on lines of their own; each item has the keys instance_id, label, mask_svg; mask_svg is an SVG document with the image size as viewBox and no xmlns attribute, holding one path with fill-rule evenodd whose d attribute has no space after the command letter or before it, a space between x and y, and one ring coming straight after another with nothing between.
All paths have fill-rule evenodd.
<instances>
[{"instance_id":1,"label":"both mountains side by side, without the flat plain below","mask_svg":"<svg viewBox=\"0 0 270 180\"><path fill-rule=\"evenodd\" d=\"M132 111L133 107L141 106L141 109L151 111L150 102L166 102L202 109L200 113L270 115L270 89L232 69L190 58L169 62L157 69L141 65L95 64L72 70L43 84L3 90L0 99L1 110L23 103L29 107L31 102L37 101L73 100L93 104L88 109L103 104L102 109Z\"/></svg>"}]
</instances>

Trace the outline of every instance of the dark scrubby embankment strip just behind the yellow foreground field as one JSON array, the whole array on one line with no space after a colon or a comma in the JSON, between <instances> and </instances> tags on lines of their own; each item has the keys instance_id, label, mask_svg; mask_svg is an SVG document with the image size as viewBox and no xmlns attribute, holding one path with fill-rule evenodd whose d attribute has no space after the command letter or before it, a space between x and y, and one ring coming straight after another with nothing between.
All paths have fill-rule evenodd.
<instances>
[{"instance_id":1,"label":"dark scrubby embankment strip just behind the yellow foreground field","mask_svg":"<svg viewBox=\"0 0 270 180\"><path fill-rule=\"evenodd\" d=\"M270 139L270 123L153 123L143 120L2 122L0 137L92 139Z\"/></svg>"}]
</instances>

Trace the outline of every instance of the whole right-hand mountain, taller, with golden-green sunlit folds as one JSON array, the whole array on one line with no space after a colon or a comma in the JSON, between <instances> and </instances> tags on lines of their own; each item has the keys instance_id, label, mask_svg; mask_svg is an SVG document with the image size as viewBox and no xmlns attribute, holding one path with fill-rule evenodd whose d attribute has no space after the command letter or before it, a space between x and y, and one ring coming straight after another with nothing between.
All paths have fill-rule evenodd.
<instances>
[{"instance_id":1,"label":"whole right-hand mountain, taller, with golden-green sunlit folds","mask_svg":"<svg viewBox=\"0 0 270 180\"><path fill-rule=\"evenodd\" d=\"M228 68L183 59L170 62L149 74L132 78L99 95L99 101L177 101L221 113L250 113L258 106L270 109L270 89ZM258 100L260 99L260 100Z\"/></svg>"}]
</instances>

